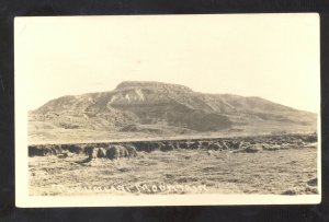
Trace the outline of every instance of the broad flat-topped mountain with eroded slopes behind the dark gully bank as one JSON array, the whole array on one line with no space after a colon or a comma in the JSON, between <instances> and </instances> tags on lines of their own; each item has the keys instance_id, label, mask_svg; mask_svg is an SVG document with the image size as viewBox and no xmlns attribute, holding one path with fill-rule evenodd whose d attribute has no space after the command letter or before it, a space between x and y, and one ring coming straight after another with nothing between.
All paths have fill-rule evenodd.
<instances>
[{"instance_id":1,"label":"broad flat-topped mountain with eroded slopes behind the dark gully bank","mask_svg":"<svg viewBox=\"0 0 329 222\"><path fill-rule=\"evenodd\" d=\"M161 82L126 81L110 92L67 95L29 113L29 136L69 130L184 135L316 130L316 114L261 97L204 94ZM42 138L44 137L44 138Z\"/></svg>"}]
</instances>

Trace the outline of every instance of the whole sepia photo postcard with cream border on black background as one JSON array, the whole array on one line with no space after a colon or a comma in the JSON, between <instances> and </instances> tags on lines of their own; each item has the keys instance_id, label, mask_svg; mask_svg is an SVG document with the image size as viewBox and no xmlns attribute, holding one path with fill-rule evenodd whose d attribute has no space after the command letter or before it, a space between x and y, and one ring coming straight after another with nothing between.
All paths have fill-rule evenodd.
<instances>
[{"instance_id":1,"label":"whole sepia photo postcard with cream border on black background","mask_svg":"<svg viewBox=\"0 0 329 222\"><path fill-rule=\"evenodd\" d=\"M319 15L14 20L18 207L321 201Z\"/></svg>"}]
</instances>

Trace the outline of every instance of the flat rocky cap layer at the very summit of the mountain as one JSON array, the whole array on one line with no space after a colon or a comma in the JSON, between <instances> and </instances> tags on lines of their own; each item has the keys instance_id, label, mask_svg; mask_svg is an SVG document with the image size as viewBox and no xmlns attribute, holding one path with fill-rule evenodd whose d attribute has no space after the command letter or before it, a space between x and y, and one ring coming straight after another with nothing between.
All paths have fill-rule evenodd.
<instances>
[{"instance_id":1,"label":"flat rocky cap layer at the very summit of the mountain","mask_svg":"<svg viewBox=\"0 0 329 222\"><path fill-rule=\"evenodd\" d=\"M173 83L162 83L156 81L124 81L120 83L115 90L122 90L127 87L157 87L157 89L168 89L168 90L179 90L179 91L188 91L193 92L190 87L173 84Z\"/></svg>"}]
</instances>

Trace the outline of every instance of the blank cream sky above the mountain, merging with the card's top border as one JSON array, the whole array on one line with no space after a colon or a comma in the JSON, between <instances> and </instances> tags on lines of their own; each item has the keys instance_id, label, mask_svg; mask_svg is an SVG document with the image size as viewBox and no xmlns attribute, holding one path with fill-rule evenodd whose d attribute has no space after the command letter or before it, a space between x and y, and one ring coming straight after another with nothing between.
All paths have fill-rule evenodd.
<instances>
[{"instance_id":1,"label":"blank cream sky above the mountain, merging with the card's top border","mask_svg":"<svg viewBox=\"0 0 329 222\"><path fill-rule=\"evenodd\" d=\"M27 109L135 80L319 110L315 13L16 17L14 40Z\"/></svg>"}]
</instances>

